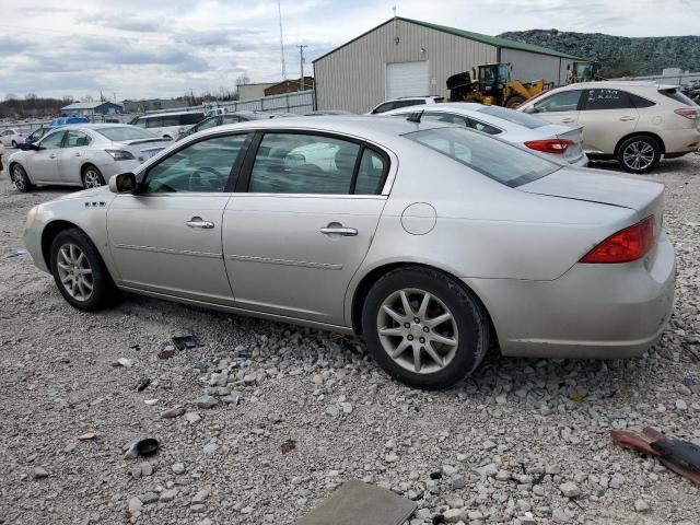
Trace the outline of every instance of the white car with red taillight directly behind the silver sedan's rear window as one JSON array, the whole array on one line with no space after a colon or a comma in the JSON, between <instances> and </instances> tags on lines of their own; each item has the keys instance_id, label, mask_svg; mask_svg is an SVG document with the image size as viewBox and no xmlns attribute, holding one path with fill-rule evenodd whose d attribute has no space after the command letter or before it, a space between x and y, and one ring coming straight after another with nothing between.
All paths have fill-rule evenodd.
<instances>
[{"instance_id":1,"label":"white car with red taillight directly behind the silver sedan's rear window","mask_svg":"<svg viewBox=\"0 0 700 525\"><path fill-rule=\"evenodd\" d=\"M381 116L406 116L423 112L421 120L466 126L483 133L497 136L508 142L524 145L556 162L585 166L588 158L583 152L580 128L551 124L542 118L524 115L500 106L485 106L469 102L435 104L430 107L412 106L386 112Z\"/></svg>"}]
</instances>

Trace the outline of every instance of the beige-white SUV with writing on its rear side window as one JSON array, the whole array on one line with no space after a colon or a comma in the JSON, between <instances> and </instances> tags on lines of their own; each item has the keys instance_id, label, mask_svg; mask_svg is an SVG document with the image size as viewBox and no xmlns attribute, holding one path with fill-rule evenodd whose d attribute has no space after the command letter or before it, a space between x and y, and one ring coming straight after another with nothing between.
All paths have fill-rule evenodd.
<instances>
[{"instance_id":1,"label":"beige-white SUV with writing on its rear side window","mask_svg":"<svg viewBox=\"0 0 700 525\"><path fill-rule=\"evenodd\" d=\"M700 148L700 106L675 85L646 82L583 82L530 98L520 112L550 122L583 126L591 159L617 159L644 173L666 159Z\"/></svg>"}]
</instances>

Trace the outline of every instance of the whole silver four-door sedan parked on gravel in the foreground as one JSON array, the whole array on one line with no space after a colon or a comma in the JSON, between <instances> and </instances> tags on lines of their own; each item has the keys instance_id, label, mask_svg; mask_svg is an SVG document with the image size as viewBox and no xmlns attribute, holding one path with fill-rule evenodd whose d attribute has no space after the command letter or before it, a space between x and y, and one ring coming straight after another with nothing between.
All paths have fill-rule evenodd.
<instances>
[{"instance_id":1,"label":"whole silver four-door sedan parked on gravel in the foreground","mask_svg":"<svg viewBox=\"0 0 700 525\"><path fill-rule=\"evenodd\" d=\"M439 388L492 342L526 357L649 349L674 299L662 194L439 122L270 119L39 205L25 242L77 308L117 288L360 334L392 376Z\"/></svg>"}]
</instances>

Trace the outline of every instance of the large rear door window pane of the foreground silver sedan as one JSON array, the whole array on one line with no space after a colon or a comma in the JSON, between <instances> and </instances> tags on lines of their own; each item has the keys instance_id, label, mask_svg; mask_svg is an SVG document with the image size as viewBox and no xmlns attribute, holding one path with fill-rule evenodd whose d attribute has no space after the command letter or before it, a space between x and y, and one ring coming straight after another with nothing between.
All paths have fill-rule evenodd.
<instances>
[{"instance_id":1,"label":"large rear door window pane of the foreground silver sedan","mask_svg":"<svg viewBox=\"0 0 700 525\"><path fill-rule=\"evenodd\" d=\"M350 192L360 145L311 133L265 133L258 148L248 192Z\"/></svg>"}]
</instances>

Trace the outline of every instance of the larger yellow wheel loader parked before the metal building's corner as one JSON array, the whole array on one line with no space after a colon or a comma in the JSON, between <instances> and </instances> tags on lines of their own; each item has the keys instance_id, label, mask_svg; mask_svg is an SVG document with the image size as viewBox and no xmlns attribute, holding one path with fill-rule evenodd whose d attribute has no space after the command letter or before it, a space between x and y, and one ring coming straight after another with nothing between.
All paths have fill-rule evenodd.
<instances>
[{"instance_id":1,"label":"larger yellow wheel loader parked before the metal building's corner","mask_svg":"<svg viewBox=\"0 0 700 525\"><path fill-rule=\"evenodd\" d=\"M485 63L477 71L453 74L447 79L451 102L478 102L486 105L515 108L530 96L550 89L542 79L533 82L511 80L508 63Z\"/></svg>"}]
</instances>

